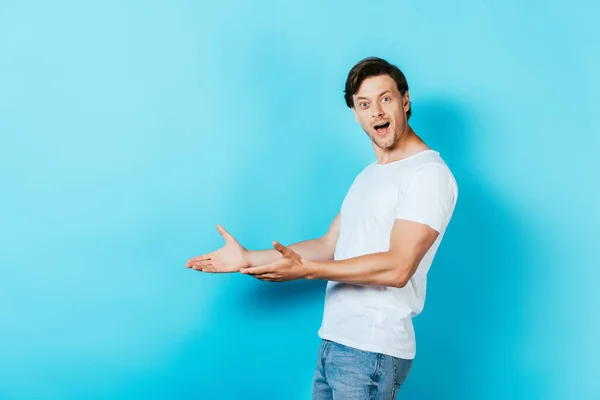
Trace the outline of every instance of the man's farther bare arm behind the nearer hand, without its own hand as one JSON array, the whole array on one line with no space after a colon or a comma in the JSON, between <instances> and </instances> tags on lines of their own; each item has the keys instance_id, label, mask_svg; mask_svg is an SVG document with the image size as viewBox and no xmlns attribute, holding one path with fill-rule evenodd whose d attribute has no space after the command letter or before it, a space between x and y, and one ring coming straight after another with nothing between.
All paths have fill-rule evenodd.
<instances>
[{"instance_id":1,"label":"man's farther bare arm behind the nearer hand, without its own hand","mask_svg":"<svg viewBox=\"0 0 600 400\"><path fill-rule=\"evenodd\" d=\"M340 234L340 216L334 218L328 231L320 238L305 240L289 245L292 251L299 254L302 258L310 261L333 260L335 245ZM270 264L281 259L281 253L277 250L246 250L246 259L249 266Z\"/></svg>"}]
</instances>

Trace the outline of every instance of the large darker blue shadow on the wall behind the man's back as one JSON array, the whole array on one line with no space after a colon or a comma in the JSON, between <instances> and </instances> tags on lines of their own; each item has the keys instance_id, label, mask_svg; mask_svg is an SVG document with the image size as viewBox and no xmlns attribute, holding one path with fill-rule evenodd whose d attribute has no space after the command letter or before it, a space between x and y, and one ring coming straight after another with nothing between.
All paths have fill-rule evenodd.
<instances>
[{"instance_id":1,"label":"large darker blue shadow on the wall behind the man's back","mask_svg":"<svg viewBox=\"0 0 600 400\"><path fill-rule=\"evenodd\" d=\"M452 99L429 99L411 121L449 165L459 199L415 318L417 359L406 398L517 398L527 379L517 350L527 222L478 168L485 154L475 151L486 149L472 144L486 132L470 114Z\"/></svg>"}]
</instances>

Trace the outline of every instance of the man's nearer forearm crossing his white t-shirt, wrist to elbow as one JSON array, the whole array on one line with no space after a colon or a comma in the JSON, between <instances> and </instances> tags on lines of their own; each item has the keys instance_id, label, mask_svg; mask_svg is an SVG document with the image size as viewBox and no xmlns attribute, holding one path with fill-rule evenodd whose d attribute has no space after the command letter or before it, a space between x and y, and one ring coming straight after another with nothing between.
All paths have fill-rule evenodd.
<instances>
[{"instance_id":1,"label":"man's nearer forearm crossing his white t-shirt, wrist to elbow","mask_svg":"<svg viewBox=\"0 0 600 400\"><path fill-rule=\"evenodd\" d=\"M363 285L403 287L410 267L390 252L336 261L310 261L306 279L323 279Z\"/></svg>"}]
</instances>

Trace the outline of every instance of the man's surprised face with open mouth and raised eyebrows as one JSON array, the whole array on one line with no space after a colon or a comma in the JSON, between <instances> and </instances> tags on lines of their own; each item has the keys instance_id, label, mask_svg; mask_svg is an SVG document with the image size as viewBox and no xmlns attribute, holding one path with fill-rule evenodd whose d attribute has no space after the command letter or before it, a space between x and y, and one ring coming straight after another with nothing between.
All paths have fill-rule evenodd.
<instances>
[{"instance_id":1,"label":"man's surprised face with open mouth and raised eyebrows","mask_svg":"<svg viewBox=\"0 0 600 400\"><path fill-rule=\"evenodd\" d=\"M392 77L379 75L365 79L353 99L356 121L373 143L383 150L392 148L408 125L408 92L402 96Z\"/></svg>"}]
</instances>

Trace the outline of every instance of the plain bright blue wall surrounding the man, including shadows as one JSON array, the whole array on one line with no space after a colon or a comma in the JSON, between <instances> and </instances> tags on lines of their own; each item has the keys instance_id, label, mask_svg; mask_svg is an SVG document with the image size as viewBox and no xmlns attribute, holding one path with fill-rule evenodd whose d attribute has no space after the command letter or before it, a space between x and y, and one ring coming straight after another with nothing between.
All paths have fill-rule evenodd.
<instances>
[{"instance_id":1,"label":"plain bright blue wall surrounding the man, including shadows","mask_svg":"<svg viewBox=\"0 0 600 400\"><path fill-rule=\"evenodd\" d=\"M0 398L310 398L324 282L188 258L317 237L377 55L460 186L408 399L600 398L598 6L0 1Z\"/></svg>"}]
</instances>

